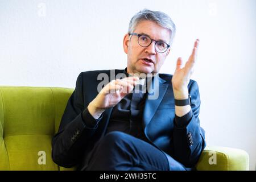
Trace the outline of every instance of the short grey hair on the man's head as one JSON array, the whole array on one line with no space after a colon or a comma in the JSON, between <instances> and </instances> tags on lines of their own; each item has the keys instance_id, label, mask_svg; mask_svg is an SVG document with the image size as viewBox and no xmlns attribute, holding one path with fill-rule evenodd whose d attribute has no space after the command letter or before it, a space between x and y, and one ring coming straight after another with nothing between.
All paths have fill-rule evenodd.
<instances>
[{"instance_id":1,"label":"short grey hair on the man's head","mask_svg":"<svg viewBox=\"0 0 256 182\"><path fill-rule=\"evenodd\" d=\"M139 22L142 22L143 20L150 20L152 22L155 22L159 24L159 26L163 28L167 28L171 32L171 39L170 39L170 46L172 42L174 41L176 27L174 22L172 22L172 19L167 14L161 12L161 11L151 11L148 9L144 9L142 11L139 11L139 13L135 14L133 18L131 18L128 28L128 33L131 33L135 30L137 27L137 24Z\"/></svg>"}]
</instances>

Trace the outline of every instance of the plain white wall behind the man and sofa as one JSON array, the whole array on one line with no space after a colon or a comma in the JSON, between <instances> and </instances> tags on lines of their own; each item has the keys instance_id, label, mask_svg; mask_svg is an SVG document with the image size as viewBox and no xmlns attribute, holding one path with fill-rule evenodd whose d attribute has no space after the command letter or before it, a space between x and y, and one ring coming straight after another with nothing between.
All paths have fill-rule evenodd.
<instances>
[{"instance_id":1,"label":"plain white wall behind the man and sofa","mask_svg":"<svg viewBox=\"0 0 256 182\"><path fill-rule=\"evenodd\" d=\"M255 7L247 0L0 0L0 85L74 88L82 71L122 69L123 35L143 8L169 14L177 26L163 73L200 51L193 79L209 145L241 148L256 164Z\"/></svg>"}]
</instances>

